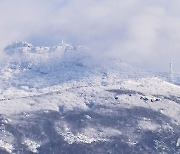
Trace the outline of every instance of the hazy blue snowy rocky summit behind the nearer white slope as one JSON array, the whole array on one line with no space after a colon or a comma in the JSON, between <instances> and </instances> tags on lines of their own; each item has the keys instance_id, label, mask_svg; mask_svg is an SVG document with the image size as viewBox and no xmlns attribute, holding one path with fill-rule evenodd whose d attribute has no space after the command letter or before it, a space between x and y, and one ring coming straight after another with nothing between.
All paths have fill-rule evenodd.
<instances>
[{"instance_id":1,"label":"hazy blue snowy rocky summit behind the nearer white slope","mask_svg":"<svg viewBox=\"0 0 180 154\"><path fill-rule=\"evenodd\" d=\"M15 42L7 46L5 52L11 58L0 73L3 79L7 79L7 85L14 87L41 88L93 77L137 78L149 75L119 59L99 61L84 47L70 44L33 47L26 42Z\"/></svg>"}]
</instances>

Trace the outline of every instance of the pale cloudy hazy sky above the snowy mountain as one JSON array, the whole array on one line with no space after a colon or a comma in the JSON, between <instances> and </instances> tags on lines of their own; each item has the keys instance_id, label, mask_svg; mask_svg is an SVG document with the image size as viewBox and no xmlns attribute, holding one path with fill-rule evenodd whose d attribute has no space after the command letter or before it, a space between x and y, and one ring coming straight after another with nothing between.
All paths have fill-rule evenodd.
<instances>
[{"instance_id":1,"label":"pale cloudy hazy sky above the snowy mountain","mask_svg":"<svg viewBox=\"0 0 180 154\"><path fill-rule=\"evenodd\" d=\"M13 41L86 45L98 57L180 72L180 0L0 0L0 51ZM1 59L2 59L1 54Z\"/></svg>"}]
</instances>

